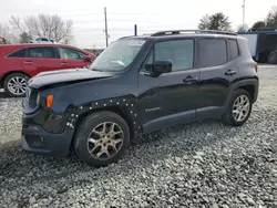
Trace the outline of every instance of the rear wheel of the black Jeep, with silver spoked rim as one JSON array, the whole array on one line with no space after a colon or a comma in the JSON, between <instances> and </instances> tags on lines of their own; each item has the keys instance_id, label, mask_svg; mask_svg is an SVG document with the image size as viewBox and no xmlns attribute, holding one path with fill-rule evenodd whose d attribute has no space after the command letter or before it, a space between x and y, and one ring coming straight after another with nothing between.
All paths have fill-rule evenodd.
<instances>
[{"instance_id":1,"label":"rear wheel of the black Jeep, with silver spoked rim","mask_svg":"<svg viewBox=\"0 0 277 208\"><path fill-rule=\"evenodd\" d=\"M245 103L246 102L248 103L248 107L246 107L246 105L243 105L245 107L244 111L240 111L240 108L238 110L238 112L244 112L244 116L242 117L238 115L239 113L233 113L233 108L236 111L237 107L235 107L235 105L239 103L238 97L240 97L242 103L244 103L243 101L245 101ZM250 94L243 89L236 90L233 97L230 98L230 103L227 107L227 111L222 116L222 122L230 126L242 126L250 116L252 106L253 106L253 98Z\"/></svg>"}]
</instances>

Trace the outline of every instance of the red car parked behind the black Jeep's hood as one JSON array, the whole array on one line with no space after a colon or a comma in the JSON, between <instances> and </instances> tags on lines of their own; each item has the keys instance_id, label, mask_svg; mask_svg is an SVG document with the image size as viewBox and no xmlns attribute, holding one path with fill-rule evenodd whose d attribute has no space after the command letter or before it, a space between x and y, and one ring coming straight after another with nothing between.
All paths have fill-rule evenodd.
<instances>
[{"instance_id":1,"label":"red car parked behind the black Jeep's hood","mask_svg":"<svg viewBox=\"0 0 277 208\"><path fill-rule=\"evenodd\" d=\"M0 44L0 89L22 96L28 79L40 72L84 67L96 56L66 44Z\"/></svg>"}]
</instances>

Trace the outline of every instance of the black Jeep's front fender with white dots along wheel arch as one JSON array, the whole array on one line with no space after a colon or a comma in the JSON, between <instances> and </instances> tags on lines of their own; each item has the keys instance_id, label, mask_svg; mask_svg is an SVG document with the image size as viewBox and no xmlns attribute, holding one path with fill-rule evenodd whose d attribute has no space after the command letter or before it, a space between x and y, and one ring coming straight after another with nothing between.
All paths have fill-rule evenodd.
<instances>
[{"instance_id":1,"label":"black Jeep's front fender with white dots along wheel arch","mask_svg":"<svg viewBox=\"0 0 277 208\"><path fill-rule=\"evenodd\" d=\"M120 108L137 129L141 127L137 121L137 80L133 77L115 76L59 86L44 91L43 96L54 95L51 114L62 116L64 128L75 128L82 115L112 107Z\"/></svg>"}]
</instances>

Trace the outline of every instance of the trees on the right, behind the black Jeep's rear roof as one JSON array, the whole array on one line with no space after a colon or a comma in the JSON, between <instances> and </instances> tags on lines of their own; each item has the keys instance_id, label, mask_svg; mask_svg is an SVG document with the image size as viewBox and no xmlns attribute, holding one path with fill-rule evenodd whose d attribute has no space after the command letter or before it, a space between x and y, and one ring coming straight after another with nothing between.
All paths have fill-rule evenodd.
<instances>
[{"instance_id":1,"label":"trees on the right, behind the black Jeep's rear roof","mask_svg":"<svg viewBox=\"0 0 277 208\"><path fill-rule=\"evenodd\" d=\"M217 12L214 14L205 14L199 23L199 30L220 30L220 31L232 31L232 32L240 32L240 31L261 31L261 30L277 30L277 7L273 7L273 9L267 13L264 20L258 20L250 28L245 25L238 25L237 29L232 28L232 23L229 18L225 15L223 12Z\"/></svg>"}]
</instances>

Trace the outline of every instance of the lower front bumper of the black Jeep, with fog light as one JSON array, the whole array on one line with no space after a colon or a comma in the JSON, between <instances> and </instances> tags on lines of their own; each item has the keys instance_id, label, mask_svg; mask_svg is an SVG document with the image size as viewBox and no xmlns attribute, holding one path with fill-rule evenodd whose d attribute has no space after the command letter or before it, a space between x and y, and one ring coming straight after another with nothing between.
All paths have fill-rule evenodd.
<instances>
[{"instance_id":1,"label":"lower front bumper of the black Jeep, with fog light","mask_svg":"<svg viewBox=\"0 0 277 208\"><path fill-rule=\"evenodd\" d=\"M37 125L22 128L22 148L29 153L49 156L66 156L70 152L73 129L62 134L51 134Z\"/></svg>"}]
</instances>

